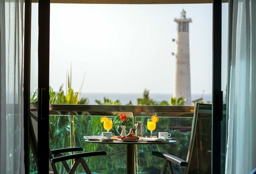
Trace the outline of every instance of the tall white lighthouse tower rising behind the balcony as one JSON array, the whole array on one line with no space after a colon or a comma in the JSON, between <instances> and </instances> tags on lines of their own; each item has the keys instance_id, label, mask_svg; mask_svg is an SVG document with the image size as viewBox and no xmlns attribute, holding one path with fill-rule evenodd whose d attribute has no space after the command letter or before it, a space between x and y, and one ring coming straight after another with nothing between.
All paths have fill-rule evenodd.
<instances>
[{"instance_id":1,"label":"tall white lighthouse tower rising behind the balcony","mask_svg":"<svg viewBox=\"0 0 256 174\"><path fill-rule=\"evenodd\" d=\"M189 56L189 22L192 20L186 18L185 10L180 13L180 19L175 19L177 22L177 49L176 49L176 66L174 77L173 97L186 98L185 105L191 105L191 90L190 90L190 56Z\"/></svg>"}]
</instances>

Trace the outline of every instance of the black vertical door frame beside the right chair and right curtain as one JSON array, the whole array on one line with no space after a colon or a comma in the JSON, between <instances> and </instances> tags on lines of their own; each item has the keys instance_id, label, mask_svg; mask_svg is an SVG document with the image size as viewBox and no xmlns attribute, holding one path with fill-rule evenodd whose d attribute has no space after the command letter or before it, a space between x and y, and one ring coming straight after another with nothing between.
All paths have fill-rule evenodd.
<instances>
[{"instance_id":1,"label":"black vertical door frame beside the right chair and right curtain","mask_svg":"<svg viewBox=\"0 0 256 174\"><path fill-rule=\"evenodd\" d=\"M222 1L213 0L212 173L221 171L221 13Z\"/></svg>"}]
</instances>

